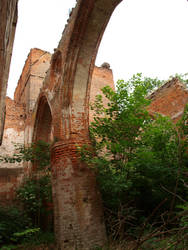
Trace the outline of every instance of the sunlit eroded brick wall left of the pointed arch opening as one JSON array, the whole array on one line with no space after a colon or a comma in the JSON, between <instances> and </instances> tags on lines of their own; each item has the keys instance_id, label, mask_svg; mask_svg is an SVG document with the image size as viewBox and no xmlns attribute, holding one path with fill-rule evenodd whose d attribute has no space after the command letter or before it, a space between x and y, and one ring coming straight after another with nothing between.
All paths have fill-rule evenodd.
<instances>
[{"instance_id":1,"label":"sunlit eroded brick wall left of the pointed arch opening","mask_svg":"<svg viewBox=\"0 0 188 250\"><path fill-rule=\"evenodd\" d=\"M27 124L30 122L31 111L49 68L50 58L50 53L32 49L15 90L14 100L6 98L6 119L3 142L0 147L0 154L3 156L13 156L16 153L15 145L23 145L25 138L31 134ZM19 171L15 172L18 168ZM11 203L13 201L15 188L23 180L23 169L25 168L22 163L0 163L0 176L2 173L7 175L6 178L5 174L2 178L0 177L0 185L3 186L0 192L0 202ZM25 169L25 174L27 174L27 169Z\"/></svg>"}]
</instances>

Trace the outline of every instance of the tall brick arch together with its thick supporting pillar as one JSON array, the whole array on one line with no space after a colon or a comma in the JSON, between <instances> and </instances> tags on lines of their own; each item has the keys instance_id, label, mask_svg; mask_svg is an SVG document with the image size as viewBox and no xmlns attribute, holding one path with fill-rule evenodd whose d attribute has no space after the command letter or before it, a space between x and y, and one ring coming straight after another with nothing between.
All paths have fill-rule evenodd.
<instances>
[{"instance_id":1,"label":"tall brick arch together with its thick supporting pillar","mask_svg":"<svg viewBox=\"0 0 188 250\"><path fill-rule=\"evenodd\" d=\"M121 1L77 0L43 85L42 91L47 93L52 107L54 223L62 250L87 250L106 241L96 179L80 161L77 146L89 141L94 62L106 25Z\"/></svg>"}]
</instances>

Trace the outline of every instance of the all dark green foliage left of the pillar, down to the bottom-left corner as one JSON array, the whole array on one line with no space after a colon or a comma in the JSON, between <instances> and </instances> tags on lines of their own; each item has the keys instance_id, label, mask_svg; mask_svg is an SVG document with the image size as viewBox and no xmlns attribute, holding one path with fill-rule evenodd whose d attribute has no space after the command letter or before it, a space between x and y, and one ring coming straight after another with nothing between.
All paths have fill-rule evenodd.
<instances>
[{"instance_id":1,"label":"all dark green foliage left of the pillar, down to the bottom-left corner","mask_svg":"<svg viewBox=\"0 0 188 250\"><path fill-rule=\"evenodd\" d=\"M1 157L5 162L31 161L36 170L27 177L17 189L17 201L22 204L22 211L17 208L0 209L0 243L29 242L40 244L52 242L53 211L52 204L50 145L43 141L33 143L30 147L17 145L13 157ZM38 239L40 237L40 239ZM5 249L14 249L8 246Z\"/></svg>"}]
</instances>

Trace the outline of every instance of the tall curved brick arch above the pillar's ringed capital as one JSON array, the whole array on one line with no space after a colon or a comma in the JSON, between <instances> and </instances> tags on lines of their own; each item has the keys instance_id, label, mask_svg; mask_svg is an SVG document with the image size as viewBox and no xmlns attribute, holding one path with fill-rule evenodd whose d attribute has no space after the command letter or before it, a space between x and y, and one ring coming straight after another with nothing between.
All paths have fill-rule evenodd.
<instances>
[{"instance_id":1,"label":"tall curved brick arch above the pillar's ringed capital","mask_svg":"<svg viewBox=\"0 0 188 250\"><path fill-rule=\"evenodd\" d=\"M78 0L55 50L46 88L58 109L58 140L88 139L91 76L98 47L115 7L122 0ZM61 130L60 130L61 128Z\"/></svg>"}]
</instances>

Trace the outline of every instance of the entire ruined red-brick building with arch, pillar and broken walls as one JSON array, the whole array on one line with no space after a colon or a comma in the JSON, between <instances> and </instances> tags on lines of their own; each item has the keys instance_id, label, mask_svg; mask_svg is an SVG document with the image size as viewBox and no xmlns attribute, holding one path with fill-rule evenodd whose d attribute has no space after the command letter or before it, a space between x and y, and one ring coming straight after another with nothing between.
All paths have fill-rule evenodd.
<instances>
[{"instance_id":1,"label":"entire ruined red-brick building with arch, pillar and broken walls","mask_svg":"<svg viewBox=\"0 0 188 250\"><path fill-rule=\"evenodd\" d=\"M11 141L29 144L39 139L55 139L51 168L59 249L86 250L93 245L103 245L106 239L95 176L79 161L76 146L89 141L92 93L95 95L102 84L113 84L111 70L95 67L94 62L106 25L120 2L77 0L54 54L31 50L14 100L6 98L4 126L17 0L0 1L1 135L4 126L1 150L13 151ZM151 98L152 112L178 119L187 103L188 92L176 79L166 83ZM22 177L21 166L1 167L0 195L4 200L11 200L14 187Z\"/></svg>"}]
</instances>

